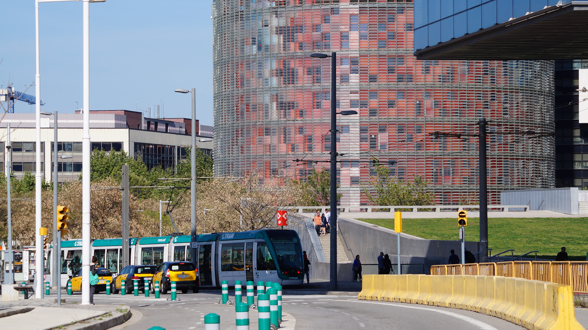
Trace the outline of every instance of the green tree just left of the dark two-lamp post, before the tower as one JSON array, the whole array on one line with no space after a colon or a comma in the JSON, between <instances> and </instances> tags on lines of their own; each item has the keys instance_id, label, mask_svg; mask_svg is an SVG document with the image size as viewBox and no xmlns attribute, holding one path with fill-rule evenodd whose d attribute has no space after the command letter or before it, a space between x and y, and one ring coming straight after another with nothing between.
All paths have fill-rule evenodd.
<instances>
[{"instance_id":1,"label":"green tree just left of the dark two-lamp post, before the tower","mask_svg":"<svg viewBox=\"0 0 588 330\"><path fill-rule=\"evenodd\" d=\"M330 171L323 166L320 172L312 167L306 180L291 180L289 186L297 191L295 203L302 206L330 205ZM339 188L339 184L337 187ZM337 194L337 200L343 194Z\"/></svg>"}]
</instances>

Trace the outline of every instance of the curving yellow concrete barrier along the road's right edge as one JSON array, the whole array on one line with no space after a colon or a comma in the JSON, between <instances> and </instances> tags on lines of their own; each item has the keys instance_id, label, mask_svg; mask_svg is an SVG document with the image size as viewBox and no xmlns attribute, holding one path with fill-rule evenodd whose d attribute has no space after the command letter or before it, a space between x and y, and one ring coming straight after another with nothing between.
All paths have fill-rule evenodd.
<instances>
[{"instance_id":1,"label":"curving yellow concrete barrier along the road's right edge","mask_svg":"<svg viewBox=\"0 0 588 330\"><path fill-rule=\"evenodd\" d=\"M586 264L572 265L572 274L574 269L578 273L580 267L582 275L577 276L584 276ZM523 270L525 267L533 265L523 265ZM468 309L529 330L584 330L576 321L569 285L480 275L363 275L358 299L375 300L374 297Z\"/></svg>"}]
</instances>

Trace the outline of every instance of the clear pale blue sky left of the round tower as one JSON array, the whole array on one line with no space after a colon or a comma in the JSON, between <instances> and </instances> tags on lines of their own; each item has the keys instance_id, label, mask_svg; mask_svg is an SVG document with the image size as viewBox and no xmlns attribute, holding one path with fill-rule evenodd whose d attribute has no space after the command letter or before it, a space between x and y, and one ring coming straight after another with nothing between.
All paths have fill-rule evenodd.
<instances>
[{"instance_id":1,"label":"clear pale blue sky left of the round tower","mask_svg":"<svg viewBox=\"0 0 588 330\"><path fill-rule=\"evenodd\" d=\"M212 125L212 1L108 0L90 4L90 109L147 111ZM0 0L0 85L35 80L35 1ZM39 4L43 111L82 107L82 2ZM35 95L35 87L26 92ZM35 112L16 102L16 113ZM155 115L153 115L155 116Z\"/></svg>"}]
</instances>

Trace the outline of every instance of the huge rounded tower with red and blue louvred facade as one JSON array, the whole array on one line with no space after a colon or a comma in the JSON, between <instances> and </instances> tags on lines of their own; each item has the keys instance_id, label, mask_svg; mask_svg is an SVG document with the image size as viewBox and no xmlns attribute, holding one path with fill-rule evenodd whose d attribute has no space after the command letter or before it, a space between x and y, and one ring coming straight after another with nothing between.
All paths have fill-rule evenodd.
<instances>
[{"instance_id":1,"label":"huge rounded tower with red and blue louvred facade","mask_svg":"<svg viewBox=\"0 0 588 330\"><path fill-rule=\"evenodd\" d=\"M553 62L416 60L413 4L382 0L215 0L215 176L304 178L329 160L330 59L337 53L342 204L365 205L375 167L430 181L435 203L476 202L477 133L553 132ZM489 202L554 187L553 137L490 134Z\"/></svg>"}]
</instances>

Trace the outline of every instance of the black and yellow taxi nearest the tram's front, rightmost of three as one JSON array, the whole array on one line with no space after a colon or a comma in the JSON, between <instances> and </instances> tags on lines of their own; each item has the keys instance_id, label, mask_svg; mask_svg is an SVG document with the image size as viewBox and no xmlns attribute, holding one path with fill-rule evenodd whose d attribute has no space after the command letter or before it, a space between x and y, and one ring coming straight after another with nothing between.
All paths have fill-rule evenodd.
<instances>
[{"instance_id":1,"label":"black and yellow taxi nearest the tram's front, rightmost of three","mask_svg":"<svg viewBox=\"0 0 588 330\"><path fill-rule=\"evenodd\" d=\"M155 292L153 283L159 281L159 290L162 294L166 294L172 287L172 281L176 282L176 290L182 291L183 294L192 290L195 294L200 290L200 278L198 277L198 269L188 261L166 261L159 265L153 281L149 288L151 292Z\"/></svg>"}]
</instances>

